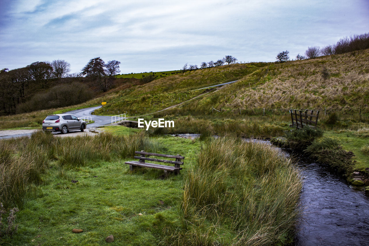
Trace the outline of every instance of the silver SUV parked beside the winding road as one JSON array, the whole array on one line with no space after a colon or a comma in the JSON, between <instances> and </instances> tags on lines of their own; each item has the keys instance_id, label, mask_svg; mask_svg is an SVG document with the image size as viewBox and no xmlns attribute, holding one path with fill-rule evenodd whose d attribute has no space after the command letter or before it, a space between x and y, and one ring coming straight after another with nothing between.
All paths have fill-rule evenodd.
<instances>
[{"instance_id":1,"label":"silver SUV parked beside the winding road","mask_svg":"<svg viewBox=\"0 0 369 246\"><path fill-rule=\"evenodd\" d=\"M48 115L42 122L42 130L60 131L62 134L66 134L71 130L84 131L85 129L86 122L75 115Z\"/></svg>"}]
</instances>

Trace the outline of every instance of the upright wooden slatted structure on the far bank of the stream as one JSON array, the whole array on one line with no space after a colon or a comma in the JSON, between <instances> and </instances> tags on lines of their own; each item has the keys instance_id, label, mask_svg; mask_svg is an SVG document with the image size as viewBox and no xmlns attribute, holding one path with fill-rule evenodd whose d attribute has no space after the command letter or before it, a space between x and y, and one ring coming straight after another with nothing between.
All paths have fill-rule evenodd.
<instances>
[{"instance_id":1,"label":"upright wooden slatted structure on the far bank of the stream","mask_svg":"<svg viewBox=\"0 0 369 246\"><path fill-rule=\"evenodd\" d=\"M310 109L290 109L292 124L296 129L304 126L316 127L318 124L319 111Z\"/></svg>"}]
</instances>

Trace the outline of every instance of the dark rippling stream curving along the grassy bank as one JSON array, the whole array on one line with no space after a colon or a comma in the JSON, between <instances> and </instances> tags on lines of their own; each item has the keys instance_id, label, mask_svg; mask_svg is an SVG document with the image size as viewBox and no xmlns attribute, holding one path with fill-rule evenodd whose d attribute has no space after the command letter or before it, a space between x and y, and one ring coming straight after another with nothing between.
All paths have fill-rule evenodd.
<instances>
[{"instance_id":1,"label":"dark rippling stream curving along the grassy bank","mask_svg":"<svg viewBox=\"0 0 369 246\"><path fill-rule=\"evenodd\" d=\"M197 137L195 134L183 135L180 137ZM265 140L245 141L271 145ZM287 151L276 148L284 156L290 157ZM328 165L301 157L297 159L296 165L303 179L303 212L296 228L294 245L369 245L369 197L362 190L350 187Z\"/></svg>"}]
</instances>

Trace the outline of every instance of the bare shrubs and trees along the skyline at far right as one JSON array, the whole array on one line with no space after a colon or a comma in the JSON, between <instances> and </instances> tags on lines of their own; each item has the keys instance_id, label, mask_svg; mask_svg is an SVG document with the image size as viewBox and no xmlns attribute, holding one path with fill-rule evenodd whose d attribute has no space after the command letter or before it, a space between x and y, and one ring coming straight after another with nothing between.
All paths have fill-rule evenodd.
<instances>
[{"instance_id":1,"label":"bare shrubs and trees along the skyline at far right","mask_svg":"<svg viewBox=\"0 0 369 246\"><path fill-rule=\"evenodd\" d=\"M360 35L352 35L350 37L344 37L337 41L336 44L327 45L323 48L320 46L308 47L305 51L305 55L296 55L296 60L303 60L307 58L316 58L322 55L338 55L348 52L354 52L362 49L369 48L369 33ZM289 51L279 52L276 56L277 62L286 62L290 59Z\"/></svg>"}]
</instances>

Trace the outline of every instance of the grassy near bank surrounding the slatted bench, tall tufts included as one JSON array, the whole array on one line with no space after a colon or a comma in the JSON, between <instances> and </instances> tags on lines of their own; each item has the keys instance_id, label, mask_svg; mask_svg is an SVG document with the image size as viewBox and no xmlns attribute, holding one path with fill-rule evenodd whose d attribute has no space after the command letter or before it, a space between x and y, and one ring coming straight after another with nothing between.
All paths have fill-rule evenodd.
<instances>
[{"instance_id":1,"label":"grassy near bank surrounding the slatted bench, tall tufts included","mask_svg":"<svg viewBox=\"0 0 369 246\"><path fill-rule=\"evenodd\" d=\"M0 141L0 160L10 154L10 158L18 163L18 166L13 166L12 173L1 173L1 180L8 182L4 187L12 187L12 191L1 189L0 198L8 202L8 207L14 203L21 205L16 220L17 233L12 237L4 236L0 239L1 243L102 245L109 235L114 235L115 245L192 245L193 239L199 243L222 241L232 244L256 240L280 244L292 239L293 225L299 215L297 201L301 182L290 161L277 157L275 151L233 138L215 140L207 137L200 141L171 136L148 137L142 130L122 126L110 126L107 131L110 133L73 138L55 138L41 131L32 135L31 139ZM235 152L229 156L225 154L225 149L214 152L214 147L219 145ZM185 156L181 174L163 179L161 170L142 168L131 172L124 162L132 160L132 151L137 149ZM30 154L22 157L19 151L34 153L36 159L30 158ZM204 156L201 157L201 153ZM209 166L210 163L205 161L208 167L195 176L206 178L207 183L196 183L192 187L195 184L189 177L197 172L196 167L203 163L201 159L204 157L218 160L214 165L219 165L222 171L214 172L215 166ZM227 165L240 163L243 169L239 169L239 165L229 169L231 166L223 165L224 158L229 162ZM38 170L38 175L28 178L32 170ZM16 176L15 171L23 172L23 175ZM247 177L244 177L245 172ZM238 173L239 178L231 173ZM285 179L284 174L287 173L289 178ZM218 218L210 213L201 222L203 225L194 227L197 207L192 208L195 209L194 214L189 214L183 202L192 203L192 199L186 198L187 195L194 198L208 195L210 186L220 188L219 179L227 181L229 192L236 191L232 191L232 187L237 188L237 197L227 196L228 211L237 213L239 209L244 209L237 205L241 199L244 206L254 209L252 214L243 216L258 216L260 219L253 222L246 217L232 220L228 213ZM26 187L21 187L21 182L25 182ZM272 185L274 191L262 194L258 187L252 185L263 182ZM14 192L18 194L17 199ZM214 189L213 192L215 197L219 197L223 189ZM242 196L249 192L254 192L255 196ZM19 196L21 193L23 197ZM259 200L259 195L269 197L269 202L265 203L264 198ZM276 203L276 199L280 202ZM188 208L192 206L189 204ZM268 218L266 215L269 215L270 206L275 207L275 214L269 218L270 221L268 219L268 226L262 218ZM224 208L220 202L212 211L221 214ZM284 216L287 213L288 218ZM280 220L282 217L283 221ZM238 225L238 220L243 221L242 226ZM199 236L211 223L215 223L222 233ZM252 233L243 233L248 223L252 230L263 231L265 236L254 239ZM83 229L83 232L72 233L74 228Z\"/></svg>"}]
</instances>

